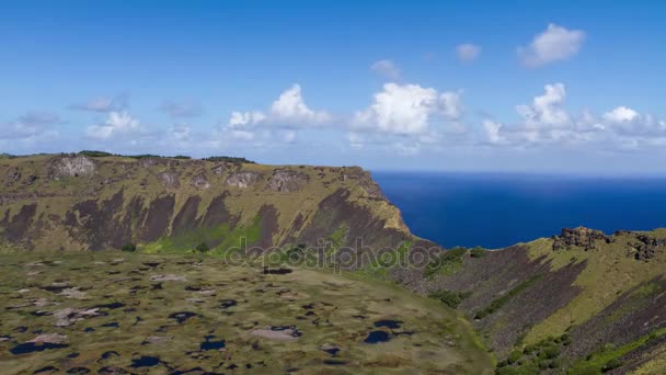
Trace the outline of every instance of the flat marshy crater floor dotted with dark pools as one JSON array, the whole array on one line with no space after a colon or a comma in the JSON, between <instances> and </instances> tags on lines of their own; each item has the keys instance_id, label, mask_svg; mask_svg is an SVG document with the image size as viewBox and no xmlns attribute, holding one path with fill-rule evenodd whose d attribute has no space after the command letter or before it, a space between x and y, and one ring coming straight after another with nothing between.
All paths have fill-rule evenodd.
<instances>
[{"instance_id":1,"label":"flat marshy crater floor dotted with dark pools","mask_svg":"<svg viewBox=\"0 0 666 375\"><path fill-rule=\"evenodd\" d=\"M5 373L491 374L441 304L355 274L120 252L0 255Z\"/></svg>"}]
</instances>

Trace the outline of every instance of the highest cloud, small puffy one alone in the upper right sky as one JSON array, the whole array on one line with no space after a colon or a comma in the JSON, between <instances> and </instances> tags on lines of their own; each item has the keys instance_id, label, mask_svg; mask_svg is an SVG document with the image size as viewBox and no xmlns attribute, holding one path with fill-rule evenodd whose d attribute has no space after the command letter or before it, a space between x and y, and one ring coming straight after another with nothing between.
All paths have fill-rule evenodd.
<instances>
[{"instance_id":1,"label":"highest cloud, small puffy one alone in the upper right sky","mask_svg":"<svg viewBox=\"0 0 666 375\"><path fill-rule=\"evenodd\" d=\"M585 32L567 30L554 23L535 36L529 46L518 47L518 57L529 68L565 60L576 55L585 42Z\"/></svg>"}]
</instances>

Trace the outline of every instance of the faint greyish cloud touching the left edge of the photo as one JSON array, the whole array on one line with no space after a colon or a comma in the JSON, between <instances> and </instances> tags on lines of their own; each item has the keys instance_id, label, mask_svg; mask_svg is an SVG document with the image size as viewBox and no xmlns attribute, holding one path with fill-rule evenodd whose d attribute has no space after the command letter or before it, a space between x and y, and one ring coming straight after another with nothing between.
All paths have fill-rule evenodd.
<instances>
[{"instance_id":1,"label":"faint greyish cloud touching the left edge of the photo","mask_svg":"<svg viewBox=\"0 0 666 375\"><path fill-rule=\"evenodd\" d=\"M27 140L57 135L53 126L61 123L60 117L53 112L27 112L19 118L0 124L0 139Z\"/></svg>"}]
</instances>

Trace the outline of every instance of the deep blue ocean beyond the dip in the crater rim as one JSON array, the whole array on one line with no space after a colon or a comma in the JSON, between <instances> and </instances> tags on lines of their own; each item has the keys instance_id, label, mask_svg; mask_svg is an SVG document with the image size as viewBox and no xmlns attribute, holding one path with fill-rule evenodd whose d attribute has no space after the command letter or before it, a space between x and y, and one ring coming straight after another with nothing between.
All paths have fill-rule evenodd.
<instances>
[{"instance_id":1,"label":"deep blue ocean beyond the dip in the crater rim","mask_svg":"<svg viewBox=\"0 0 666 375\"><path fill-rule=\"evenodd\" d=\"M444 247L502 248L579 225L666 227L666 179L374 172L415 235Z\"/></svg>"}]
</instances>

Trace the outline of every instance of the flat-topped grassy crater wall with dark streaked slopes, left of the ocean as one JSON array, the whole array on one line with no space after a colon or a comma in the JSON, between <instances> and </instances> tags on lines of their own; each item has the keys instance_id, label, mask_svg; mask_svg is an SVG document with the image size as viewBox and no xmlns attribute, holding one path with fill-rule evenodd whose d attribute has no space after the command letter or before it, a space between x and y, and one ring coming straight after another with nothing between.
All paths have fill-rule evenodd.
<instances>
[{"instance_id":1,"label":"flat-topped grassy crater wall with dark streaked slopes, left of the ocean","mask_svg":"<svg viewBox=\"0 0 666 375\"><path fill-rule=\"evenodd\" d=\"M0 160L5 247L184 251L315 245L334 232L395 246L411 235L368 172L79 155ZM370 243L371 245L371 243Z\"/></svg>"}]
</instances>

